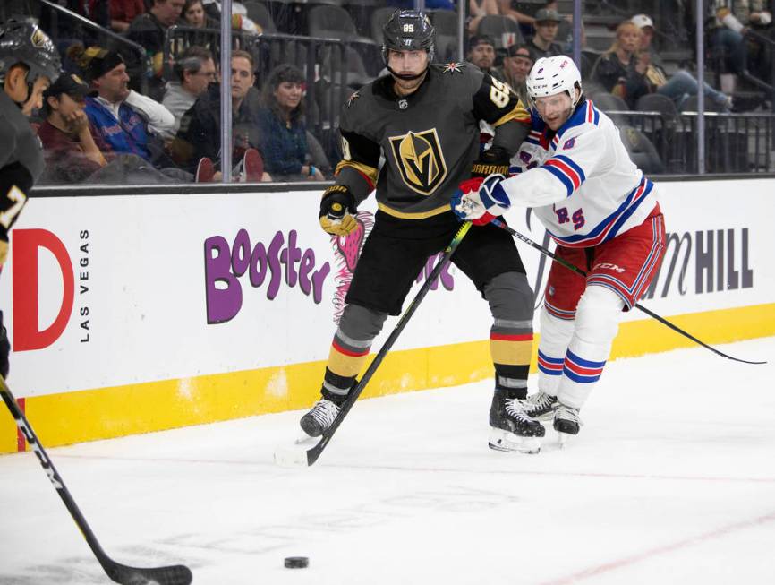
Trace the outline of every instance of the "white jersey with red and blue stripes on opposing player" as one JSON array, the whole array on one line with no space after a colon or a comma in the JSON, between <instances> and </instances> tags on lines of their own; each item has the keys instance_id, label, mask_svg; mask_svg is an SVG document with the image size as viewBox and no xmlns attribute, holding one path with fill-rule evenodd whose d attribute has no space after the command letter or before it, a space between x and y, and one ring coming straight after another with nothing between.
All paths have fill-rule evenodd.
<instances>
[{"instance_id":1,"label":"white jersey with red and blue stripes on opposing player","mask_svg":"<svg viewBox=\"0 0 775 585\"><path fill-rule=\"evenodd\" d=\"M511 162L516 175L501 185L512 210L534 208L558 245L599 245L643 223L657 205L617 127L589 100L557 133L531 110L531 132Z\"/></svg>"}]
</instances>

